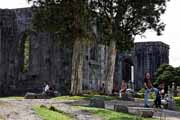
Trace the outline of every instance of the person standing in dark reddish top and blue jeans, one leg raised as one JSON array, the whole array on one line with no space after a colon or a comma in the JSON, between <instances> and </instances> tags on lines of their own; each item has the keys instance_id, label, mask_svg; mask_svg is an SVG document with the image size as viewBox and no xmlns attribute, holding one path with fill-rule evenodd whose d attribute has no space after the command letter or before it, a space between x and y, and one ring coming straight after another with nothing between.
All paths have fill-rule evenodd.
<instances>
[{"instance_id":1,"label":"person standing in dark reddish top and blue jeans, one leg raised","mask_svg":"<svg viewBox=\"0 0 180 120\"><path fill-rule=\"evenodd\" d=\"M155 92L155 95L157 96L158 93L158 89L153 87L152 82L151 82L151 77L150 77L150 73L145 73L144 76L144 87L145 87L145 93L144 93L144 107L149 107L148 105L148 97L149 97L149 93L151 91Z\"/></svg>"}]
</instances>

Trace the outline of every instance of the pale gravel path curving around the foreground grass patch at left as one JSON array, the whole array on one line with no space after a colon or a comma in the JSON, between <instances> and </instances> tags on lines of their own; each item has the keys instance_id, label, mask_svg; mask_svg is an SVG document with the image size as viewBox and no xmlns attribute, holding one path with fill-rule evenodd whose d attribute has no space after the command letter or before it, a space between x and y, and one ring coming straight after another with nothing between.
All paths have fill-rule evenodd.
<instances>
[{"instance_id":1,"label":"pale gravel path curving around the foreground grass patch at left","mask_svg":"<svg viewBox=\"0 0 180 120\"><path fill-rule=\"evenodd\" d=\"M101 120L88 112L50 99L0 99L0 120L41 120L32 110L33 105L54 106L59 110L72 114L77 120Z\"/></svg>"}]
</instances>

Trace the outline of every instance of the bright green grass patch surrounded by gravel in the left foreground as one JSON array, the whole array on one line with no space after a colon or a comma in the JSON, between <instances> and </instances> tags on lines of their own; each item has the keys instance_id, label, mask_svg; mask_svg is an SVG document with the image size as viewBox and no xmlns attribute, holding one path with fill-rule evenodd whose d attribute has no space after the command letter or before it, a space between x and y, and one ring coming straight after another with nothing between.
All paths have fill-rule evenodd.
<instances>
[{"instance_id":1,"label":"bright green grass patch surrounded by gravel in the left foreground","mask_svg":"<svg viewBox=\"0 0 180 120\"><path fill-rule=\"evenodd\" d=\"M34 106L33 110L38 116L43 120L73 120L72 117L68 116L65 113L51 111L46 107Z\"/></svg>"}]
</instances>

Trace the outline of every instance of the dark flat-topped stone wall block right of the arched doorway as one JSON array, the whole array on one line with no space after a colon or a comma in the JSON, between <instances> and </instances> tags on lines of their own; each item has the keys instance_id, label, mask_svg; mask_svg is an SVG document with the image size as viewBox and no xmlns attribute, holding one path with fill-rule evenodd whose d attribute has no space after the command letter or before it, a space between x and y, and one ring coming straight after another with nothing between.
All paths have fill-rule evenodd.
<instances>
[{"instance_id":1,"label":"dark flat-topped stone wall block right of the arched doorway","mask_svg":"<svg viewBox=\"0 0 180 120\"><path fill-rule=\"evenodd\" d=\"M143 78L154 73L161 64L169 64L169 46L163 42L139 42L134 48L135 88L143 86Z\"/></svg>"}]
</instances>

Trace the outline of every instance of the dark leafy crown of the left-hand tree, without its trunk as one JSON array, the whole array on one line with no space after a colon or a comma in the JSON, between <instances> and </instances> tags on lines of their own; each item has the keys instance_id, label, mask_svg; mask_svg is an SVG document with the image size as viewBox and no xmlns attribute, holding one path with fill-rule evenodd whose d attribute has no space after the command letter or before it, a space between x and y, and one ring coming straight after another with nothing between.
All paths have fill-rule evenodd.
<instances>
[{"instance_id":1,"label":"dark leafy crown of the left-hand tree, without its trunk","mask_svg":"<svg viewBox=\"0 0 180 120\"><path fill-rule=\"evenodd\" d=\"M51 32L60 45L72 45L77 37L90 41L89 9L85 0L28 0L33 3L32 26L36 31ZM67 42L68 41L68 42Z\"/></svg>"}]
</instances>

